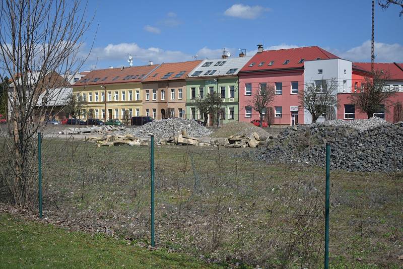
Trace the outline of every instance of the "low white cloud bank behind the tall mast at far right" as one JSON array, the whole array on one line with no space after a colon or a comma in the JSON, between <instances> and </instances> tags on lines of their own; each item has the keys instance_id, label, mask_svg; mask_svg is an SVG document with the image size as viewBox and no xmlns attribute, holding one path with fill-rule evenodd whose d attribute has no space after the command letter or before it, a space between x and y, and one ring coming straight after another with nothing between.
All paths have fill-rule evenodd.
<instances>
[{"instance_id":1,"label":"low white cloud bank behind the tall mast at far right","mask_svg":"<svg viewBox=\"0 0 403 269\"><path fill-rule=\"evenodd\" d=\"M330 49L331 50L331 49ZM335 55L352 61L371 61L371 41L367 40L357 47L347 51L331 50ZM375 62L402 62L403 45L382 42L374 43Z\"/></svg>"}]
</instances>

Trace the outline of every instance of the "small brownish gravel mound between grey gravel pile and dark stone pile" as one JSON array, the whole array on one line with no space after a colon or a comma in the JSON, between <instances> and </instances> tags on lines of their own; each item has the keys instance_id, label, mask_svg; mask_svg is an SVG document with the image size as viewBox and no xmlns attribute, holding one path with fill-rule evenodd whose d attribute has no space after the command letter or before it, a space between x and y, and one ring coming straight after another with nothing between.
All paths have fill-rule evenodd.
<instances>
[{"instance_id":1,"label":"small brownish gravel mound between grey gravel pile and dark stone pile","mask_svg":"<svg viewBox=\"0 0 403 269\"><path fill-rule=\"evenodd\" d=\"M250 137L253 132L256 132L261 138L270 137L270 133L262 128L253 125L249 122L234 121L227 123L215 131L212 137L229 138L230 136L245 136Z\"/></svg>"}]
</instances>

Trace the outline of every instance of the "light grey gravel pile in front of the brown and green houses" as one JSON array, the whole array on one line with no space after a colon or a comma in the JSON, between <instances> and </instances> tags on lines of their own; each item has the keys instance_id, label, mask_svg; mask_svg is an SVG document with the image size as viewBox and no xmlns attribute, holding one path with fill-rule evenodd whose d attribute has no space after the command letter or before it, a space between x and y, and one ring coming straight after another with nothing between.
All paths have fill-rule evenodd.
<instances>
[{"instance_id":1,"label":"light grey gravel pile in front of the brown and green houses","mask_svg":"<svg viewBox=\"0 0 403 269\"><path fill-rule=\"evenodd\" d=\"M147 137L150 133L159 138L168 138L186 130L190 137L210 136L212 131L205 126L199 125L193 119L167 118L154 120L139 128L127 128L124 131L133 134L135 137Z\"/></svg>"}]
</instances>

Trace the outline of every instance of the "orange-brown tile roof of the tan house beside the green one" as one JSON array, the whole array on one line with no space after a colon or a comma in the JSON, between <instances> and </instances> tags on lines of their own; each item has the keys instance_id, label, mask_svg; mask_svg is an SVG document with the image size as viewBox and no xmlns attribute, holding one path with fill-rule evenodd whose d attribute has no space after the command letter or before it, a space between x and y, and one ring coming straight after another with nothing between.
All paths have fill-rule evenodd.
<instances>
[{"instance_id":1,"label":"orange-brown tile roof of the tan house beside the green one","mask_svg":"<svg viewBox=\"0 0 403 269\"><path fill-rule=\"evenodd\" d=\"M187 75L200 63L201 60L162 63L159 68L154 70L143 82L149 81L166 81L166 80L183 80ZM180 72L184 72L181 75ZM168 73L172 73L168 76ZM165 75L167 75L165 77ZM180 76L179 76L180 75ZM175 78L176 76L176 78ZM164 78L165 77L165 78Z\"/></svg>"}]
</instances>

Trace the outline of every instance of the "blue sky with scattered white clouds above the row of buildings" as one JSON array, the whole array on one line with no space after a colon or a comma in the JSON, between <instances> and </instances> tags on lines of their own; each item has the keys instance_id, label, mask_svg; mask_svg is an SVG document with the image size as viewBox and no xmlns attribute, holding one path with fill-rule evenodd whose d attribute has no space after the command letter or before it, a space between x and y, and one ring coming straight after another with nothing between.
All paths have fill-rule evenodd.
<instances>
[{"instance_id":1,"label":"blue sky with scattered white clouds above the row of buildings","mask_svg":"<svg viewBox=\"0 0 403 269\"><path fill-rule=\"evenodd\" d=\"M375 7L375 61L403 62L399 8ZM89 1L95 12L83 69L219 57L256 45L265 49L318 45L354 61L370 61L371 1Z\"/></svg>"}]
</instances>

